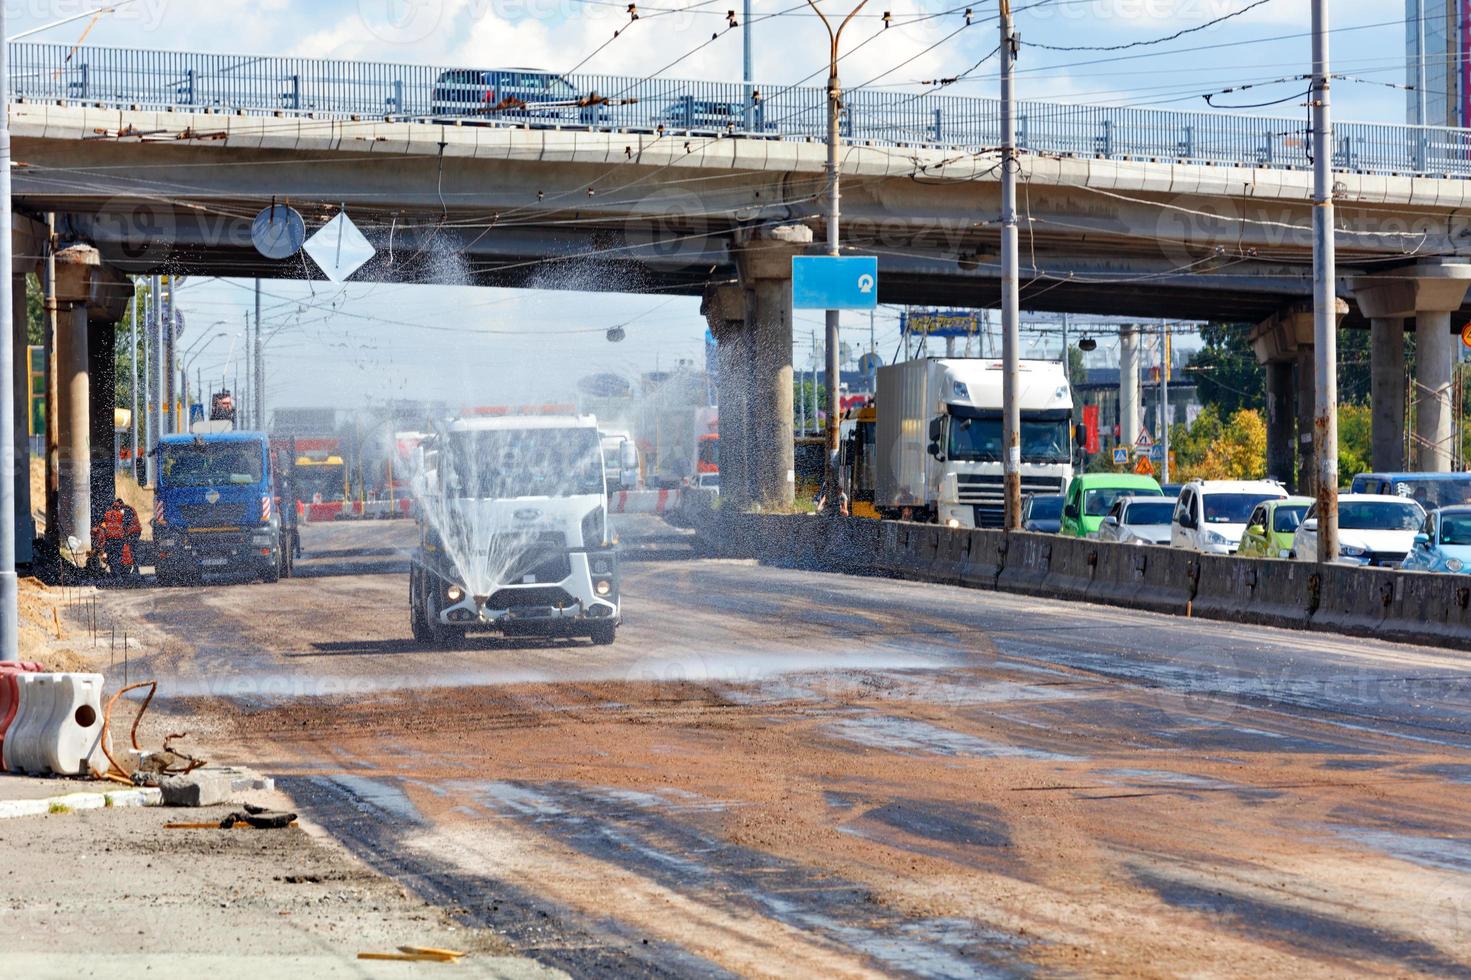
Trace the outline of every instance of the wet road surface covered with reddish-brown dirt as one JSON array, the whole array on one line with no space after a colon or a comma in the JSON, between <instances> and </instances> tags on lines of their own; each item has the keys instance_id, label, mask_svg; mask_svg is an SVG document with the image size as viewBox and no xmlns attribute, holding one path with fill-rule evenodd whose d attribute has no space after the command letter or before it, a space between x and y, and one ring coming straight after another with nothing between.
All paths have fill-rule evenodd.
<instances>
[{"instance_id":1,"label":"wet road surface covered with reddish-brown dirt","mask_svg":"<svg viewBox=\"0 0 1471 980\"><path fill-rule=\"evenodd\" d=\"M612 647L415 645L403 522L103 605L165 724L577 976L1471 976L1461 655L621 530Z\"/></svg>"}]
</instances>

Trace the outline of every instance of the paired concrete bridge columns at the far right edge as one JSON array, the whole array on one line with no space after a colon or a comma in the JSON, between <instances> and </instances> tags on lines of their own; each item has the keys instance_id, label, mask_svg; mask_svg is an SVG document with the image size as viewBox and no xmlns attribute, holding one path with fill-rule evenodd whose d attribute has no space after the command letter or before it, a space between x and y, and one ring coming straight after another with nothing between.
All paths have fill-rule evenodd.
<instances>
[{"instance_id":1,"label":"paired concrete bridge columns at the far right edge","mask_svg":"<svg viewBox=\"0 0 1471 980\"><path fill-rule=\"evenodd\" d=\"M1374 468L1393 469L1381 464L1402 459L1397 450L1399 438L1392 436L1389 425L1397 422L1396 434L1403 433L1403 388L1397 378L1403 371L1403 356L1395 356L1396 344L1387 337L1380 349L1380 321L1415 318L1415 433L1414 462L1422 471L1450 469L1455 419L1452 418L1450 388L1455 374L1455 346L1450 338L1450 313L1461 309L1471 287L1471 263L1450 259L1430 259L1400 269L1353 280L1353 299L1359 310L1374 322ZM1386 333L1392 327L1386 324ZM1393 374L1392 380L1389 375ZM1383 416L1383 424L1381 424ZM1383 431L1381 431L1383 425ZM1395 449L1392 449L1395 443ZM1403 461L1402 462L1408 462Z\"/></svg>"}]
</instances>

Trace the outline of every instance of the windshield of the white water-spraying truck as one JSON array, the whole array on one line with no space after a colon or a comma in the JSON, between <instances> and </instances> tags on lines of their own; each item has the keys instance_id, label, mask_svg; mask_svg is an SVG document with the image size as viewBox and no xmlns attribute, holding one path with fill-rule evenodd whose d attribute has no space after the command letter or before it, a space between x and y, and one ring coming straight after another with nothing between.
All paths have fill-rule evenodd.
<instances>
[{"instance_id":1,"label":"windshield of the white water-spraying truck","mask_svg":"<svg viewBox=\"0 0 1471 980\"><path fill-rule=\"evenodd\" d=\"M594 428L452 433L441 480L462 497L571 497L603 493L603 453Z\"/></svg>"}]
</instances>

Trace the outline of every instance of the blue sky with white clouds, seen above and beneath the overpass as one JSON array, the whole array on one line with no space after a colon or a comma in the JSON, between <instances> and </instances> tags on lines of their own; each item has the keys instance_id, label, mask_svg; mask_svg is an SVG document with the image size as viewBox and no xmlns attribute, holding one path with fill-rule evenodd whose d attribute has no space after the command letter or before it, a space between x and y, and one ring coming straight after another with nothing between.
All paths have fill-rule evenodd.
<instances>
[{"instance_id":1,"label":"blue sky with white clouds, seen above and beneath the overpass","mask_svg":"<svg viewBox=\"0 0 1471 980\"><path fill-rule=\"evenodd\" d=\"M1178 40L1118 52L1043 50L1037 46L1115 46L1159 38L1250 7L1252 0L1012 0L1022 34L1018 94L1071 103L1206 109L1206 93L1224 104L1286 99L1253 112L1300 119L1293 77L1309 68L1308 0L1269 0L1242 16ZM627 0L132 0L100 18L88 44L169 50L352 57L432 65L521 65L584 72L647 75L688 54L665 75L738 79L741 32L716 41L725 10L737 0L649 0L630 24ZM9 0L9 32L38 26L97 6L96 0ZM822 3L824 10L846 10ZM872 0L844 35L853 54L843 62L852 85L881 78L912 87L956 75L994 49L996 1L977 0L972 26L949 0ZM1034 7L1034 9L1028 9ZM881 15L891 13L888 29ZM1336 72L1352 81L1334 88L1339 119L1402 122L1406 93L1403 3L1333 0ZM949 13L946 13L949 12ZM752 19L758 81L793 82L819 71L825 35L806 7L790 0L755 0ZM924 19L921 19L924 18ZM31 40L75 43L78 21ZM621 34L616 40L613 31ZM602 50L600 46L608 43ZM703 47L700 47L703 44ZM1277 79L1284 79L1278 84ZM994 65L947 91L996 94ZM237 331L252 303L238 283L196 281L188 288L191 324ZM269 283L271 397L284 403L359 405L371 397L427 396L453 386L466 400L555 397L591 371L635 374L658 362L703 356L705 325L694 299L568 291L500 291L466 287ZM380 319L375 319L380 318ZM434 327L463 322L475 337ZM606 327L630 322L628 340L609 344ZM221 324L221 325L213 325ZM422 327L418 327L421 325ZM799 313L799 362L809 356ZM488 333L497 331L497 333ZM559 331L552 340L546 331ZM866 344L866 316L852 318ZM878 347L887 359L897 327L880 315ZM229 377L240 344L210 341L199 365ZM450 365L446 368L446 365ZM528 366L535 369L528 369Z\"/></svg>"}]
</instances>

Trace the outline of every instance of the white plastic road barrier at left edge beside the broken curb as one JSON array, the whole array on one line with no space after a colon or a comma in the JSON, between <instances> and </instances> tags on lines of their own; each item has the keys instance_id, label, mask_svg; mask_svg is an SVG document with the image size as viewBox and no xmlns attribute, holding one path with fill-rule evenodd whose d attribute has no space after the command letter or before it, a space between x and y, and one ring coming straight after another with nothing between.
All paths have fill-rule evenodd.
<instances>
[{"instance_id":1,"label":"white plastic road barrier at left edge beside the broken curb","mask_svg":"<svg viewBox=\"0 0 1471 980\"><path fill-rule=\"evenodd\" d=\"M10 773L81 775L101 761L101 674L18 674L19 703L4 737Z\"/></svg>"}]
</instances>

